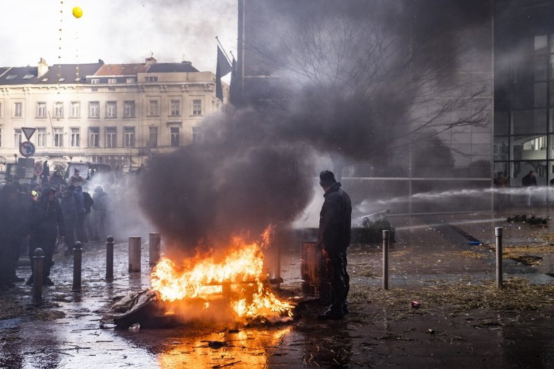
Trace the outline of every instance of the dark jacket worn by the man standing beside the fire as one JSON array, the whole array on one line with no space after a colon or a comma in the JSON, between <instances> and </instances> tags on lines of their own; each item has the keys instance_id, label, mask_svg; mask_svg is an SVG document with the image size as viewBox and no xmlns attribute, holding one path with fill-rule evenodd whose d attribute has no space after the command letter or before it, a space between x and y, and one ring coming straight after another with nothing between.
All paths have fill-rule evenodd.
<instances>
[{"instance_id":1,"label":"dark jacket worn by the man standing beside the fire","mask_svg":"<svg viewBox=\"0 0 554 369\"><path fill-rule=\"evenodd\" d=\"M318 245L330 253L344 252L350 244L352 205L350 197L334 183L325 192L325 201L319 213Z\"/></svg>"}]
</instances>

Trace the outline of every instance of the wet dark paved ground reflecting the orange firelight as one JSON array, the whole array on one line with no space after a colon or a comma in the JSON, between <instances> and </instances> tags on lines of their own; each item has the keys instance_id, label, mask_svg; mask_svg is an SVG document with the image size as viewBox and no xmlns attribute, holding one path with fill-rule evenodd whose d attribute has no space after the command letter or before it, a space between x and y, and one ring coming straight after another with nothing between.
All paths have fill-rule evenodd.
<instances>
[{"instance_id":1,"label":"wet dark paved ground reflecting the orange firelight","mask_svg":"<svg viewBox=\"0 0 554 369\"><path fill-rule=\"evenodd\" d=\"M550 217L550 212L543 208L535 215ZM280 325L205 321L166 329L100 329L100 318L114 301L149 287L148 244L141 273L127 272L127 243L115 244L113 282L104 280L105 244L85 246L79 293L71 292L72 257L57 253L55 286L44 287L43 305L29 305L31 288L24 283L0 291L0 368L554 368L554 307L548 304L554 293L547 289L554 281L548 275L554 273L554 253L533 252L533 246L554 241L548 241L550 228L506 222L523 213L528 211L389 217L397 228L389 255L390 289L380 288L380 245L352 246L350 314L341 321L316 320L322 307L315 300L298 307L293 322ZM424 289L439 294L494 281L488 244L494 245L495 226L503 227L506 247L526 245L529 254L542 258L538 265L504 259L503 267L505 280L526 278L544 287L546 304L497 308L495 295L490 308L468 303L461 309L448 300L420 300L420 309L411 307L412 296L431 296ZM483 244L470 243L467 235ZM301 293L300 262L299 245L284 251L280 287L292 295ZM27 277L30 267L19 267L18 273Z\"/></svg>"}]
</instances>

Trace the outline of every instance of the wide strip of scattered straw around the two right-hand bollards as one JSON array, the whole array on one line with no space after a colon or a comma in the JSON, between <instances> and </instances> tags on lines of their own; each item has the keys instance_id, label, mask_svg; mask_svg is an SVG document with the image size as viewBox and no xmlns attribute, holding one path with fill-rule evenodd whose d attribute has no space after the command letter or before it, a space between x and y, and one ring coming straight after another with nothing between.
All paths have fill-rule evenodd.
<instances>
[{"instance_id":1,"label":"wide strip of scattered straw around the two right-hand bollards","mask_svg":"<svg viewBox=\"0 0 554 369\"><path fill-rule=\"evenodd\" d=\"M554 303L554 285L533 285L524 278L508 278L503 289L497 289L496 281L487 280L481 285L464 282L440 282L417 289L380 289L378 287L352 285L348 299L356 304L382 306L388 318L400 320L414 314L436 313L457 316L472 309L488 311L525 311L551 307ZM420 303L420 309L412 309L411 301Z\"/></svg>"}]
</instances>

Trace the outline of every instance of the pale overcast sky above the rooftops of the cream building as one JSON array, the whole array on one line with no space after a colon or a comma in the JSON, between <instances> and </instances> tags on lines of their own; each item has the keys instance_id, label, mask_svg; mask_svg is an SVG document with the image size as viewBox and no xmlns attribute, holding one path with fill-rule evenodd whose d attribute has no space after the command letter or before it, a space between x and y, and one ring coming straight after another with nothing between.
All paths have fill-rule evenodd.
<instances>
[{"instance_id":1,"label":"pale overcast sky above the rooftops of the cream building","mask_svg":"<svg viewBox=\"0 0 554 369\"><path fill-rule=\"evenodd\" d=\"M215 36L237 55L237 0L4 0L0 66L139 63L153 53L215 73Z\"/></svg>"}]
</instances>

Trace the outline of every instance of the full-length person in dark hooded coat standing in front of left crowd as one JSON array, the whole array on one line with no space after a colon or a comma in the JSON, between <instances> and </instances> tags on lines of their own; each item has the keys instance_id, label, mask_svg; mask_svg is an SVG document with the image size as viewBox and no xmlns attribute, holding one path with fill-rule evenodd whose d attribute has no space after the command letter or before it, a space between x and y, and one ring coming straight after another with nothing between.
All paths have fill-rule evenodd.
<instances>
[{"instance_id":1,"label":"full-length person in dark hooded coat standing in front of left crowd","mask_svg":"<svg viewBox=\"0 0 554 369\"><path fill-rule=\"evenodd\" d=\"M28 236L31 267L35 249L41 248L44 252L42 277L43 284L46 286L54 285L48 276L50 276L57 235L60 235L61 241L65 238L64 215L60 203L54 198L55 192L53 188L46 188L40 195L39 201L34 202ZM33 284L33 275L29 277L26 284Z\"/></svg>"}]
</instances>

